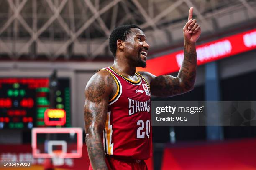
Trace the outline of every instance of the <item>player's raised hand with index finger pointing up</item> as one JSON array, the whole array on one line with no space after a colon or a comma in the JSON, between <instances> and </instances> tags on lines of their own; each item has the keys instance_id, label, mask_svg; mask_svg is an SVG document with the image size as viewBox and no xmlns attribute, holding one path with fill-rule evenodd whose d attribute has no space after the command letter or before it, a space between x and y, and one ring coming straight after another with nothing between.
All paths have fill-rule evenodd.
<instances>
[{"instance_id":1,"label":"player's raised hand with index finger pointing up","mask_svg":"<svg viewBox=\"0 0 256 170\"><path fill-rule=\"evenodd\" d=\"M192 19L193 9L193 7L190 7L188 21L183 27L184 40L188 43L195 43L201 34L200 25L197 24L197 20Z\"/></svg>"}]
</instances>

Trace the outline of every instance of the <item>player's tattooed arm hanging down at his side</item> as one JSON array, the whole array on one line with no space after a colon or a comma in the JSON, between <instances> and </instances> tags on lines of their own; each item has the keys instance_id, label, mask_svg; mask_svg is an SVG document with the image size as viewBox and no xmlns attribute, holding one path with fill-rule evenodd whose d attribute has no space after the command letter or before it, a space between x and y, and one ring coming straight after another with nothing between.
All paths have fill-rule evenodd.
<instances>
[{"instance_id":1,"label":"player's tattooed arm hanging down at his side","mask_svg":"<svg viewBox=\"0 0 256 170\"><path fill-rule=\"evenodd\" d=\"M93 170L108 170L102 145L108 101L113 91L111 75L99 71L86 85L84 103L85 142Z\"/></svg>"}]
</instances>

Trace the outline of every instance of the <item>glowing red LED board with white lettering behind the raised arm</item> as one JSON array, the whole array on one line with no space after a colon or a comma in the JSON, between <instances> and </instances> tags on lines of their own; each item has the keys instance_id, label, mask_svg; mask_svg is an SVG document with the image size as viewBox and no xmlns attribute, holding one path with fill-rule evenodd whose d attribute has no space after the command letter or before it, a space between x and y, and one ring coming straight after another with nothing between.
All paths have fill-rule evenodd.
<instances>
[{"instance_id":1,"label":"glowing red LED board with white lettering behind the raised arm","mask_svg":"<svg viewBox=\"0 0 256 170\"><path fill-rule=\"evenodd\" d=\"M197 64L220 60L256 49L256 29L242 32L197 46ZM154 75L179 71L183 61L183 50L156 57L147 61L147 67L136 71L148 71Z\"/></svg>"}]
</instances>

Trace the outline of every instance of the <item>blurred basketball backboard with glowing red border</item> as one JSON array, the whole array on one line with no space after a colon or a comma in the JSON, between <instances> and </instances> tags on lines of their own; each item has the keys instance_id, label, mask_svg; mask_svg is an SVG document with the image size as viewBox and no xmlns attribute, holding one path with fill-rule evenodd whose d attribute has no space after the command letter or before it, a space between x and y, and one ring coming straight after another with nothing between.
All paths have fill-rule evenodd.
<instances>
[{"instance_id":1,"label":"blurred basketball backboard with glowing red border","mask_svg":"<svg viewBox=\"0 0 256 170\"><path fill-rule=\"evenodd\" d=\"M82 128L33 128L32 152L35 158L80 158Z\"/></svg>"}]
</instances>

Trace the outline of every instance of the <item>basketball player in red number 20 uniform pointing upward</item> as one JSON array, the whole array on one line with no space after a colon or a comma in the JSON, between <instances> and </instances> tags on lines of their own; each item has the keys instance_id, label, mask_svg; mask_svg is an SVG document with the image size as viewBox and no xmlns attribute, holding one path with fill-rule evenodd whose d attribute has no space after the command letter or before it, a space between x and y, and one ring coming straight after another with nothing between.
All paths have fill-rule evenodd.
<instances>
[{"instance_id":1,"label":"basketball player in red number 20 uniform pointing upward","mask_svg":"<svg viewBox=\"0 0 256 170\"><path fill-rule=\"evenodd\" d=\"M149 45L136 25L115 28L110 35L112 67L99 70L85 89L84 120L90 170L147 170L152 132L150 95L170 97L193 89L201 29L192 20L183 28L184 61L177 77L136 72L146 67ZM161 65L156 65L161 67Z\"/></svg>"}]
</instances>

